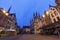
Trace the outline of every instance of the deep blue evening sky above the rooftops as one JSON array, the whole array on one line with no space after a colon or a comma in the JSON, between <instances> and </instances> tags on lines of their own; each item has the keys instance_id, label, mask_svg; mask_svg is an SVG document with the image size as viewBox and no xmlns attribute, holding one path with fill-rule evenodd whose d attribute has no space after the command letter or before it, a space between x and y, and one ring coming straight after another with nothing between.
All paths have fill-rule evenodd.
<instances>
[{"instance_id":1,"label":"deep blue evening sky above the rooftops","mask_svg":"<svg viewBox=\"0 0 60 40\"><path fill-rule=\"evenodd\" d=\"M16 13L16 18L19 26L29 25L33 18L33 12L38 12L43 15L45 10L49 9L50 5L55 5L55 0L0 0L0 8Z\"/></svg>"}]
</instances>

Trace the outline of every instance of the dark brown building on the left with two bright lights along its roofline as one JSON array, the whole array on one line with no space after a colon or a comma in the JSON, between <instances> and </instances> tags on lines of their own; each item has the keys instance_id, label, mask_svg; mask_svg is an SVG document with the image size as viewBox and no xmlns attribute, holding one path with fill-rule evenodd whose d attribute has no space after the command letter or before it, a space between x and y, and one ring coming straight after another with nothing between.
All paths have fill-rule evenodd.
<instances>
[{"instance_id":1,"label":"dark brown building on the left with two bright lights along its roofline","mask_svg":"<svg viewBox=\"0 0 60 40\"><path fill-rule=\"evenodd\" d=\"M11 14L3 8L0 8L0 32L4 30L9 35L11 35L10 32L14 32L12 34L16 35L16 28L15 14Z\"/></svg>"}]
</instances>

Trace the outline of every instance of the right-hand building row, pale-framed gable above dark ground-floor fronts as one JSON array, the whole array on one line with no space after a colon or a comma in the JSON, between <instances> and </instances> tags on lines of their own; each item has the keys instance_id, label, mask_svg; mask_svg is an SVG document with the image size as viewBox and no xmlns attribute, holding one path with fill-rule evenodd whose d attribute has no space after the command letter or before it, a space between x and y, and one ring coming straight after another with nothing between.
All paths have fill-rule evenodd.
<instances>
[{"instance_id":1,"label":"right-hand building row, pale-framed gable above dark ground-floor fronts","mask_svg":"<svg viewBox=\"0 0 60 40\"><path fill-rule=\"evenodd\" d=\"M55 0L55 2L56 6L49 5L50 9L46 12L47 16L46 14L43 16L45 26L42 27L42 33L44 34L60 35L60 0Z\"/></svg>"}]
</instances>

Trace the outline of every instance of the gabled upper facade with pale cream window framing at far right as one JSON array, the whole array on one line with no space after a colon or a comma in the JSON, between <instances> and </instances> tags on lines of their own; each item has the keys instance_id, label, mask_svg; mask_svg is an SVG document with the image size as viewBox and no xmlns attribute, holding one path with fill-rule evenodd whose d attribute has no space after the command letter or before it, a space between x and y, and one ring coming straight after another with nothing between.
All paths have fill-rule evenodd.
<instances>
[{"instance_id":1,"label":"gabled upper facade with pale cream window framing at far right","mask_svg":"<svg viewBox=\"0 0 60 40\"><path fill-rule=\"evenodd\" d=\"M58 22L60 20L60 1L56 0L56 6L50 6L49 14L52 23Z\"/></svg>"}]
</instances>

